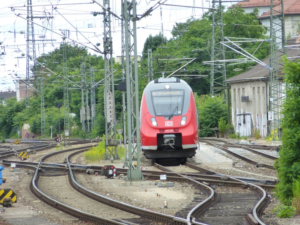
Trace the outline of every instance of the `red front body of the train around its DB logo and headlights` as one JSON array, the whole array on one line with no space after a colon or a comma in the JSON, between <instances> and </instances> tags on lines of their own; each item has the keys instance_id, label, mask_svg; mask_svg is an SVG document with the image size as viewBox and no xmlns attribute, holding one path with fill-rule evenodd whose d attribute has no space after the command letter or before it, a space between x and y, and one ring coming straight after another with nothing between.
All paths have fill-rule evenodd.
<instances>
[{"instance_id":1,"label":"red front body of the train around its DB logo and headlights","mask_svg":"<svg viewBox=\"0 0 300 225\"><path fill-rule=\"evenodd\" d=\"M174 115L171 118L152 116L146 104L145 93L143 94L140 134L142 150L147 158L189 158L195 154L198 143L198 123L192 91L185 100L188 110L184 115ZM163 107L165 108L166 105ZM182 124L183 118L184 124ZM168 143L168 139L173 143Z\"/></svg>"}]
</instances>

